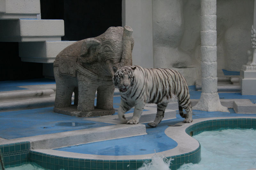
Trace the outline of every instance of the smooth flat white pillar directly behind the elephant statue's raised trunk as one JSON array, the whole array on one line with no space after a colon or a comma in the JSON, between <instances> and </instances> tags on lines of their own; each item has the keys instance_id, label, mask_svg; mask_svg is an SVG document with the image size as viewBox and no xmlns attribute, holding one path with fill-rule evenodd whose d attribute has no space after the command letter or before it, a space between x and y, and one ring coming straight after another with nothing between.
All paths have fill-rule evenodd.
<instances>
[{"instance_id":1,"label":"smooth flat white pillar directly behind the elephant statue's raised trunk","mask_svg":"<svg viewBox=\"0 0 256 170\"><path fill-rule=\"evenodd\" d=\"M133 29L132 64L153 67L152 0L123 0L122 26Z\"/></svg>"}]
</instances>

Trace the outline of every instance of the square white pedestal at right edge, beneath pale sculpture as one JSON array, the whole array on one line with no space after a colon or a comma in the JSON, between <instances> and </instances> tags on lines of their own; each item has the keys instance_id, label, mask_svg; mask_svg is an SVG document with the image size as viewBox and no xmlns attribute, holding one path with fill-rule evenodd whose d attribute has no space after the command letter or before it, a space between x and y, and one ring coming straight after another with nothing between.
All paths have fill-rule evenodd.
<instances>
[{"instance_id":1,"label":"square white pedestal at right edge, beneath pale sculpture","mask_svg":"<svg viewBox=\"0 0 256 170\"><path fill-rule=\"evenodd\" d=\"M239 82L242 95L256 95L256 66L243 65Z\"/></svg>"}]
</instances>

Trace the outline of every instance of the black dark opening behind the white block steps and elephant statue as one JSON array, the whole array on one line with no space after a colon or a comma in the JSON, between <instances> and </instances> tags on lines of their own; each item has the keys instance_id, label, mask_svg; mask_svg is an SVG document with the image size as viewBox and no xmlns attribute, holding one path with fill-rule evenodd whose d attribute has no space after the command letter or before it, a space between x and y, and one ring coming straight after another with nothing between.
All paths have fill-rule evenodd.
<instances>
[{"instance_id":1,"label":"black dark opening behind the white block steps and elephant statue","mask_svg":"<svg viewBox=\"0 0 256 170\"><path fill-rule=\"evenodd\" d=\"M122 26L122 0L40 0L42 19L63 19L63 41L96 37ZM0 81L43 78L43 63L21 62L18 42L0 42Z\"/></svg>"}]
</instances>

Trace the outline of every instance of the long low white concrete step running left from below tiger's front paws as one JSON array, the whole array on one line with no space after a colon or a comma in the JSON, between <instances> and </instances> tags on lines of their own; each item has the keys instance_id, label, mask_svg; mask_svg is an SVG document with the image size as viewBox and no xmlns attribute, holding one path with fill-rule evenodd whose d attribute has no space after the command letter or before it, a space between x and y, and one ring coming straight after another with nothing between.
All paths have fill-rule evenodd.
<instances>
[{"instance_id":1,"label":"long low white concrete step running left from below tiger's front paws","mask_svg":"<svg viewBox=\"0 0 256 170\"><path fill-rule=\"evenodd\" d=\"M143 124L127 125L116 124L99 128L81 129L47 135L38 135L33 137L22 137L16 139L0 138L1 144L17 143L29 141L31 149L52 149L76 144L85 144L90 142L98 142L103 140L118 139L124 137L133 137L146 135L146 126Z\"/></svg>"}]
</instances>

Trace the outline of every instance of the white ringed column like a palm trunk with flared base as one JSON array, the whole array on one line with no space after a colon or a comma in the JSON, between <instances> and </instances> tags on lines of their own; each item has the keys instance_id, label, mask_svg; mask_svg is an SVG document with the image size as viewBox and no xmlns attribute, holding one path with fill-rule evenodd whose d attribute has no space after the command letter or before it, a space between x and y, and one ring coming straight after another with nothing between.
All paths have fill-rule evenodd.
<instances>
[{"instance_id":1,"label":"white ringed column like a palm trunk with flared base","mask_svg":"<svg viewBox=\"0 0 256 170\"><path fill-rule=\"evenodd\" d=\"M228 112L220 104L217 90L216 0L201 0L202 93L193 109Z\"/></svg>"}]
</instances>

